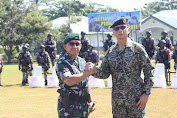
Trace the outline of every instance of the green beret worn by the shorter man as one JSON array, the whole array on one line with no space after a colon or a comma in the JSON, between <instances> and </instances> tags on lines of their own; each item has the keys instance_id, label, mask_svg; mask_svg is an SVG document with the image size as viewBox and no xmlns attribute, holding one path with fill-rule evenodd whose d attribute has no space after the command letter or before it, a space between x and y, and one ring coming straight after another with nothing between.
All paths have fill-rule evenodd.
<instances>
[{"instance_id":1,"label":"green beret worn by the shorter man","mask_svg":"<svg viewBox=\"0 0 177 118\"><path fill-rule=\"evenodd\" d=\"M71 40L81 40L79 33L70 33L64 39L64 44L67 44Z\"/></svg>"}]
</instances>

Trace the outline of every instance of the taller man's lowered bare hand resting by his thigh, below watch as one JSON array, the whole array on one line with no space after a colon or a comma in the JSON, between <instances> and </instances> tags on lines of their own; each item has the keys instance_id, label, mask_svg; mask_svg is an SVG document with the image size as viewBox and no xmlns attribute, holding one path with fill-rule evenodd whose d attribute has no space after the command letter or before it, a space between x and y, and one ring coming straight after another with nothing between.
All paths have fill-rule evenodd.
<instances>
[{"instance_id":1,"label":"taller man's lowered bare hand resting by his thigh, below watch","mask_svg":"<svg viewBox=\"0 0 177 118\"><path fill-rule=\"evenodd\" d=\"M140 100L136 104L136 106L138 107L138 110L145 108L146 103L148 102L148 99L149 99L149 95L146 95L145 93L141 95Z\"/></svg>"}]
</instances>

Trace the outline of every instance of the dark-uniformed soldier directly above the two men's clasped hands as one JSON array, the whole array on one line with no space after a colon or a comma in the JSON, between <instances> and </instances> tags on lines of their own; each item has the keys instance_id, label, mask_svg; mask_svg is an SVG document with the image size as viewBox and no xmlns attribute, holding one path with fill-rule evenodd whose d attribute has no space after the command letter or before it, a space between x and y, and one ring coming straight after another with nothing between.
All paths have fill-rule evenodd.
<instances>
[{"instance_id":1,"label":"dark-uniformed soldier directly above the two men's clasped hands","mask_svg":"<svg viewBox=\"0 0 177 118\"><path fill-rule=\"evenodd\" d=\"M85 61L86 62L92 62L94 64L98 64L98 57L97 54L95 52L92 51L93 50L93 46L92 45L88 45L88 51L85 54Z\"/></svg>"}]
</instances>

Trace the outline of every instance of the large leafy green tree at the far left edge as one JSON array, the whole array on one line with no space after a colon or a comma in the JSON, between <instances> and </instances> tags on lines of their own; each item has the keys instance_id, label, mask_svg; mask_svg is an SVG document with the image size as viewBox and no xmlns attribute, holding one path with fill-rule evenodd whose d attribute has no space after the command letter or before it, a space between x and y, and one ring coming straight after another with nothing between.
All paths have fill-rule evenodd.
<instances>
[{"instance_id":1,"label":"large leafy green tree at the far left edge","mask_svg":"<svg viewBox=\"0 0 177 118\"><path fill-rule=\"evenodd\" d=\"M41 34L50 27L47 18L42 17L34 5L26 7L23 0L0 1L0 44L8 62L11 62L12 54L19 46L42 38Z\"/></svg>"}]
</instances>

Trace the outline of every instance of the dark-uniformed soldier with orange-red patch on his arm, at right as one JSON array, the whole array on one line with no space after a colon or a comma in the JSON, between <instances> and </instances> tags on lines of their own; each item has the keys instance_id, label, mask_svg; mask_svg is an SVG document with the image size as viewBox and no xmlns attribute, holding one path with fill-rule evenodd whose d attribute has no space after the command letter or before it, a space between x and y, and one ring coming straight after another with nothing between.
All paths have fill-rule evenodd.
<instances>
[{"instance_id":1,"label":"dark-uniformed soldier with orange-red patch on his arm, at right","mask_svg":"<svg viewBox=\"0 0 177 118\"><path fill-rule=\"evenodd\" d=\"M168 82L167 70L170 69L170 49L166 47L166 41L160 40L160 49L157 51L155 63L163 63L165 65L165 77Z\"/></svg>"}]
</instances>

